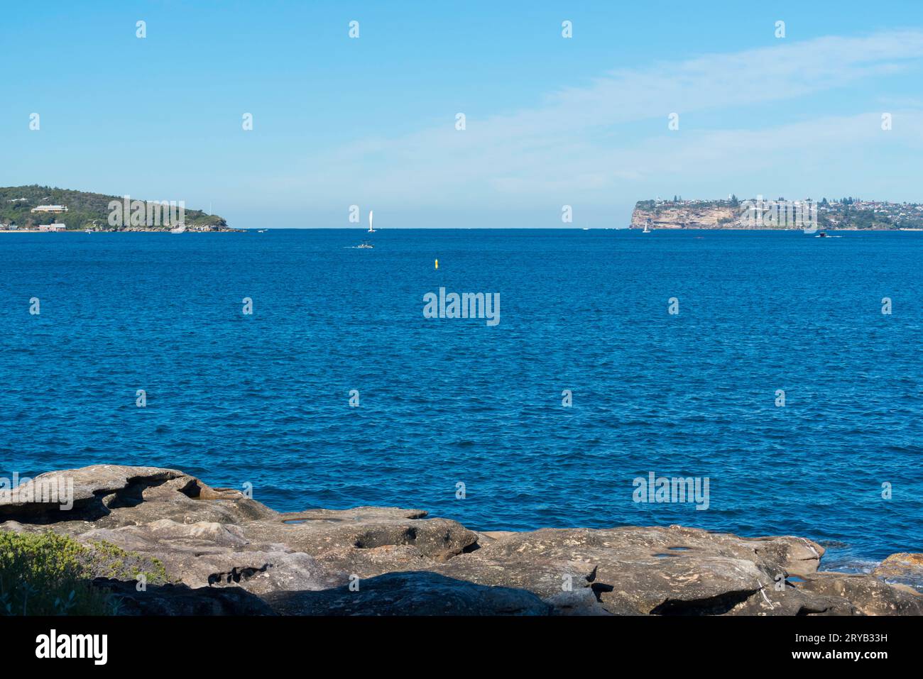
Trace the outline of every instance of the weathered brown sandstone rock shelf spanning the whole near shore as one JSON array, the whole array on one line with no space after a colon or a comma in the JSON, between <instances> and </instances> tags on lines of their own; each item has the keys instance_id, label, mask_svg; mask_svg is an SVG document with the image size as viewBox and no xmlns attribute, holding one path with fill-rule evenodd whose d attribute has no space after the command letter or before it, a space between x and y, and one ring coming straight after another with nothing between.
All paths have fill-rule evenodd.
<instances>
[{"instance_id":1,"label":"weathered brown sandstone rock shelf spanning the whole near shore","mask_svg":"<svg viewBox=\"0 0 923 679\"><path fill-rule=\"evenodd\" d=\"M57 482L73 482L69 509L35 501L40 484ZM397 507L282 513L154 467L42 474L0 492L0 530L114 545L123 555L114 572L124 554L138 572L156 566L162 576L144 587L93 581L126 614L923 613L923 596L902 584L923 567L920 554L853 575L818 572L823 547L787 535L681 526L477 532Z\"/></svg>"}]
</instances>

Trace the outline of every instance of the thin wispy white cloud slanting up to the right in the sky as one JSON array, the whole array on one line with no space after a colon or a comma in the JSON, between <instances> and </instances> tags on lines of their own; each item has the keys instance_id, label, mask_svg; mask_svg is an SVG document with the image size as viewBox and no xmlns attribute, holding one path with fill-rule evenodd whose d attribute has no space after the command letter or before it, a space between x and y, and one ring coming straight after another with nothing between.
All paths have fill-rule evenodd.
<instances>
[{"instance_id":1,"label":"thin wispy white cloud slanting up to the right in the sky","mask_svg":"<svg viewBox=\"0 0 923 679\"><path fill-rule=\"evenodd\" d=\"M751 113L797 107L798 101L816 101L835 89L910 74L921 63L923 32L904 30L610 70L580 87L551 92L536 107L469 117L463 132L453 127L453 111L439 127L358 139L308 159L306 176L282 181L287 188L307 186L308 195L321 202L363 197L452 206L476 197L485 204L527 205L548 199L549 192L598 201L611 199L612 191L633 200L643 197L638 191L652 176L701 173L704 162L724 164L709 166L716 178L746 173L754 166L747 149L764 152L765 164L786 162L785 149L823 154L845 143L875 143L881 140L881 112L869 111L878 102L862 97L856 97L854 110L832 107L797 123L773 125ZM676 132L666 127L673 112L681 120ZM739 114L731 128L713 130L685 122L684 116L698 112L699 121L707 112L721 113L725 125L729 112ZM898 115L903 124L889 134L919 143L916 115L912 109Z\"/></svg>"}]
</instances>

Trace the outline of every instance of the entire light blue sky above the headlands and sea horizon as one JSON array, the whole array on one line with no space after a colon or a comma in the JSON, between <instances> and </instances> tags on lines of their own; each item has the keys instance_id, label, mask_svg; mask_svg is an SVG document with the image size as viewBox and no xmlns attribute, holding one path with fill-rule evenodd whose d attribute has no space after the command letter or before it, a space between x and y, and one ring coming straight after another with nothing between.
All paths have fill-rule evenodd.
<instances>
[{"instance_id":1,"label":"entire light blue sky above the headlands and sea horizon","mask_svg":"<svg viewBox=\"0 0 923 679\"><path fill-rule=\"evenodd\" d=\"M7 4L0 185L251 228L349 227L354 204L380 228L562 227L563 205L599 228L676 194L923 202L923 6L761 5Z\"/></svg>"}]
</instances>

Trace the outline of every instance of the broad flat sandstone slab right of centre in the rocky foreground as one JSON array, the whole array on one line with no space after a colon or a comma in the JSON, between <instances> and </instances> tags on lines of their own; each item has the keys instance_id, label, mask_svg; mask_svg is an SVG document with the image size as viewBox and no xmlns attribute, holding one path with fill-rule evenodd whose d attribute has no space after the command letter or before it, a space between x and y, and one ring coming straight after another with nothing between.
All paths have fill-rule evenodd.
<instances>
[{"instance_id":1,"label":"broad flat sandstone slab right of centre in the rocky foreground","mask_svg":"<svg viewBox=\"0 0 923 679\"><path fill-rule=\"evenodd\" d=\"M550 599L565 585L589 587L616 614L719 614L775 578L816 570L823 548L801 538L747 540L688 529L626 527L513 533L437 570Z\"/></svg>"}]
</instances>

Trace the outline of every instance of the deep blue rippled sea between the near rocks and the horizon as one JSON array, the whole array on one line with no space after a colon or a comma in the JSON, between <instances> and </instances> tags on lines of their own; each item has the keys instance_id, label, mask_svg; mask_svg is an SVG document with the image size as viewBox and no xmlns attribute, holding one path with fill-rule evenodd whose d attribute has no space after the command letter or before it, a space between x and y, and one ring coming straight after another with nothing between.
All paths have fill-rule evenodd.
<instances>
[{"instance_id":1,"label":"deep blue rippled sea between the near rocks and the horizon","mask_svg":"<svg viewBox=\"0 0 923 679\"><path fill-rule=\"evenodd\" d=\"M795 534L828 567L923 547L923 233L365 235L0 235L0 474L143 464L280 510ZM500 323L426 319L439 287L499 292ZM633 502L650 471L708 477L709 508Z\"/></svg>"}]
</instances>

